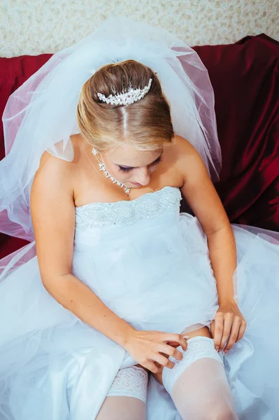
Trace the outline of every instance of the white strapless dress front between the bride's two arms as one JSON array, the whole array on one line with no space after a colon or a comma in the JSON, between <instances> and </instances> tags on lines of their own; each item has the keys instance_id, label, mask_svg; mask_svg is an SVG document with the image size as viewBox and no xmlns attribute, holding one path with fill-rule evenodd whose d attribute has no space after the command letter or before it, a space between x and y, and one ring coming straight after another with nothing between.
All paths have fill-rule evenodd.
<instances>
[{"instance_id":1,"label":"white strapless dress front between the bride's two arms","mask_svg":"<svg viewBox=\"0 0 279 420\"><path fill-rule=\"evenodd\" d=\"M137 328L173 330L176 318L179 332L194 323L193 279L195 288L201 281L199 314L210 307L199 323L207 323L216 309L206 238L196 218L180 214L181 200L179 188L166 186L135 200L76 207L73 274ZM189 225L187 243L183 225ZM172 318L169 311L175 312Z\"/></svg>"}]
</instances>

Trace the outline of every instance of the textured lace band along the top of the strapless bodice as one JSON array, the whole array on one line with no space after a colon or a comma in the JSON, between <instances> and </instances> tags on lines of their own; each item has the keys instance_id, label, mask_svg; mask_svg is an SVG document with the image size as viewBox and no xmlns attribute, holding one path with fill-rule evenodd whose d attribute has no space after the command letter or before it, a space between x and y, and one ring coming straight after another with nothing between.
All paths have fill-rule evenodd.
<instances>
[{"instance_id":1,"label":"textured lace band along the top of the strapless bodice","mask_svg":"<svg viewBox=\"0 0 279 420\"><path fill-rule=\"evenodd\" d=\"M166 186L135 200L90 203L76 207L76 230L113 224L131 225L142 218L155 218L164 211L176 211L182 200L178 187Z\"/></svg>"}]
</instances>

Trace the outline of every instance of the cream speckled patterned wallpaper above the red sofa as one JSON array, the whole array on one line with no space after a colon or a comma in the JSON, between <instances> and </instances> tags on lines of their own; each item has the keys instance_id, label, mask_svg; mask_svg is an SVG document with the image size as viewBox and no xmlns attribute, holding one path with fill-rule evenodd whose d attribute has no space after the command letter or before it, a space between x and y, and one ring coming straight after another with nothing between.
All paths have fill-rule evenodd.
<instances>
[{"instance_id":1,"label":"cream speckled patterned wallpaper above the red sofa","mask_svg":"<svg viewBox=\"0 0 279 420\"><path fill-rule=\"evenodd\" d=\"M279 40L279 0L0 0L0 56L56 52L110 15L162 26L189 45Z\"/></svg>"}]
</instances>

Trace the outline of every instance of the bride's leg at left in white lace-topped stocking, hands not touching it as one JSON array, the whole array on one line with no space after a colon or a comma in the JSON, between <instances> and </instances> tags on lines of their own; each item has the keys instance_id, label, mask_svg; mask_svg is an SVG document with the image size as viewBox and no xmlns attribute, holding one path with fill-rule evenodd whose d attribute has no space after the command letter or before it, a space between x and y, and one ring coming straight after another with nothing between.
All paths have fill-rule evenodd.
<instances>
[{"instance_id":1,"label":"bride's leg at left in white lace-topped stocking, hands not touching it","mask_svg":"<svg viewBox=\"0 0 279 420\"><path fill-rule=\"evenodd\" d=\"M117 372L96 420L145 420L148 373L138 365Z\"/></svg>"}]
</instances>

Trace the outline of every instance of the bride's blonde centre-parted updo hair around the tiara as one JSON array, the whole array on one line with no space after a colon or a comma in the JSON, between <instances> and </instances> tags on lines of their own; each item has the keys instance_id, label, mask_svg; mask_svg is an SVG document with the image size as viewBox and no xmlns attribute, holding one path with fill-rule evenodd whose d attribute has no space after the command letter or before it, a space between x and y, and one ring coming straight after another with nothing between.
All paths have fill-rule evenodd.
<instances>
[{"instance_id":1,"label":"bride's blonde centre-parted updo hair around the tiara","mask_svg":"<svg viewBox=\"0 0 279 420\"><path fill-rule=\"evenodd\" d=\"M127 92L148 86L145 97L129 105L102 102L97 93ZM117 94L116 93L116 94ZM101 66L81 90L77 108L78 126L83 137L99 152L112 151L125 141L136 150L155 151L174 139L170 106L156 73L150 67L129 59Z\"/></svg>"}]
</instances>

